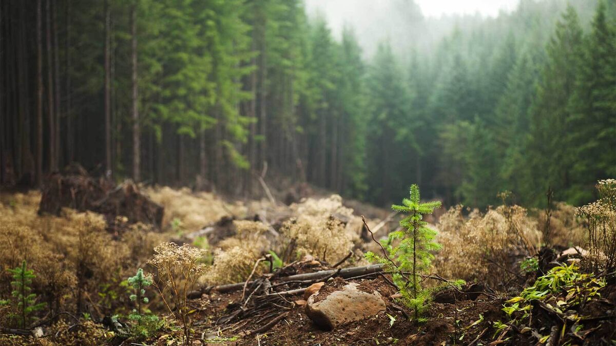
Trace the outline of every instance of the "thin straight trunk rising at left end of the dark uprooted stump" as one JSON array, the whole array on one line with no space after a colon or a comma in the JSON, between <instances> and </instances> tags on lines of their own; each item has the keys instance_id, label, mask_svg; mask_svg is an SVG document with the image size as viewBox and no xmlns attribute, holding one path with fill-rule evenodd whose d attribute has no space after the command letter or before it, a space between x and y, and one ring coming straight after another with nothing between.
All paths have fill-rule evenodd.
<instances>
[{"instance_id":1,"label":"thin straight trunk rising at left end of the dark uprooted stump","mask_svg":"<svg viewBox=\"0 0 616 346\"><path fill-rule=\"evenodd\" d=\"M43 15L36 2L36 183L43 185Z\"/></svg>"}]
</instances>

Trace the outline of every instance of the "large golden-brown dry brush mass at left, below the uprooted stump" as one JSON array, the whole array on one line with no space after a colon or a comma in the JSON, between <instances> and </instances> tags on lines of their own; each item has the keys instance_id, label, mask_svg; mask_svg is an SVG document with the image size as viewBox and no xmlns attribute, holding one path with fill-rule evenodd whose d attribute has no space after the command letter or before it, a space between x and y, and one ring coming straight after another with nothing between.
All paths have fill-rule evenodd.
<instances>
[{"instance_id":1,"label":"large golden-brown dry brush mass at left, below the uprooted stump","mask_svg":"<svg viewBox=\"0 0 616 346\"><path fill-rule=\"evenodd\" d=\"M109 297L123 296L123 272L134 272L128 267L149 256L152 233L137 224L116 239L102 215L93 212L62 209L60 216L39 216L40 197L38 192L2 195L0 297L10 294L6 269L26 260L36 275L33 292L49 312L88 312L95 318L111 313L121 302Z\"/></svg>"}]
</instances>

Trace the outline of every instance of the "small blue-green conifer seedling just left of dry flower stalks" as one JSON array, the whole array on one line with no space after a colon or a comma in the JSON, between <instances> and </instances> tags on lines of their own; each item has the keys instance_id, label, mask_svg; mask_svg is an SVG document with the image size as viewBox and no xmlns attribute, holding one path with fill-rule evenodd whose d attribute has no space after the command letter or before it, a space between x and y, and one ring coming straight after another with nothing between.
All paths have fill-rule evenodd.
<instances>
[{"instance_id":1,"label":"small blue-green conifer seedling just left of dry flower stalks","mask_svg":"<svg viewBox=\"0 0 616 346\"><path fill-rule=\"evenodd\" d=\"M142 308L142 304L149 302L148 298L145 297L145 289L152 285L152 280L145 276L144 271L139 268L135 276L128 278L128 283L134 289L130 299L136 304L136 308L128 315L128 319L132 322L131 334L137 339L147 338L161 327L158 316L144 312L144 308Z\"/></svg>"}]
</instances>

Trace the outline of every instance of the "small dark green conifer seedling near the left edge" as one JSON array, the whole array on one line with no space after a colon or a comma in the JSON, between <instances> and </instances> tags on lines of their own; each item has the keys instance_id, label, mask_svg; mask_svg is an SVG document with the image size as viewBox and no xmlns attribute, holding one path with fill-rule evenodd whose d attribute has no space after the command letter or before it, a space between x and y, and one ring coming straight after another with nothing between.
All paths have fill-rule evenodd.
<instances>
[{"instance_id":1,"label":"small dark green conifer seedling near the left edge","mask_svg":"<svg viewBox=\"0 0 616 346\"><path fill-rule=\"evenodd\" d=\"M10 316L17 320L19 328L26 328L28 322L32 318L32 314L45 307L45 303L36 303L36 294L31 293L32 279L36 278L33 270L28 269L26 261L22 262L20 267L9 269L13 276L13 281L10 282L13 287L11 296L13 297L13 308L15 313ZM9 300L1 300L0 304L10 305Z\"/></svg>"}]
</instances>

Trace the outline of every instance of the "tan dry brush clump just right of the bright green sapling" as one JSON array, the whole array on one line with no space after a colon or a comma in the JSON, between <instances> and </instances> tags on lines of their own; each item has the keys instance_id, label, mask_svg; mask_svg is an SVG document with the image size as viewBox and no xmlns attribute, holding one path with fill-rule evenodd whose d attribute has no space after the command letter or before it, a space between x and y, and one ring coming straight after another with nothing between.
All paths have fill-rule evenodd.
<instances>
[{"instance_id":1,"label":"tan dry brush clump just right of the bright green sapling","mask_svg":"<svg viewBox=\"0 0 616 346\"><path fill-rule=\"evenodd\" d=\"M500 284L516 259L534 255L541 244L537 222L520 206L499 206L468 217L463 207L452 207L440 217L436 272L446 278L482 280Z\"/></svg>"}]
</instances>

